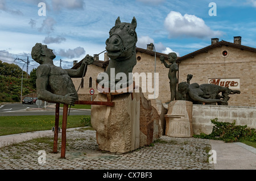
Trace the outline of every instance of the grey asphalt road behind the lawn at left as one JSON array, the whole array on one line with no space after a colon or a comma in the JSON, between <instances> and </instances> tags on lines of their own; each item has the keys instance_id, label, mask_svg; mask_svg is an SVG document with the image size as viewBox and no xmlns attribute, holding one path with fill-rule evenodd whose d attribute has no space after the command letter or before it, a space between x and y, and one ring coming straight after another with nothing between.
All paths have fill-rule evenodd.
<instances>
[{"instance_id":1,"label":"grey asphalt road behind the lawn at left","mask_svg":"<svg viewBox=\"0 0 256 181\"><path fill-rule=\"evenodd\" d=\"M34 110L32 110L34 108ZM42 106L40 106L42 108ZM36 116L36 115L55 115L55 108L47 107L46 110L36 110L38 106L36 104L3 104L0 106L0 116ZM28 111L30 110L30 111ZM60 115L62 115L63 109L60 108ZM72 109L69 115L90 115L90 110L75 110ZM1 118L0 118L1 119Z\"/></svg>"}]
</instances>

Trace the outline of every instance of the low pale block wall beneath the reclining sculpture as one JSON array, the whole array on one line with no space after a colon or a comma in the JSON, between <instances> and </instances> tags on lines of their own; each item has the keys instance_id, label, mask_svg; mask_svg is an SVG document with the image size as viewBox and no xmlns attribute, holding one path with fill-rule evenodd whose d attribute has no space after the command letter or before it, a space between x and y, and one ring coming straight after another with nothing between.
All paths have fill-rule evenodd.
<instances>
[{"instance_id":1,"label":"low pale block wall beneath the reclining sculpture","mask_svg":"<svg viewBox=\"0 0 256 181\"><path fill-rule=\"evenodd\" d=\"M247 125L249 128L256 128L256 107L194 104L192 111L194 134L211 133L213 124L210 120L216 117L221 122L232 123L233 120L236 120L236 125Z\"/></svg>"}]
</instances>

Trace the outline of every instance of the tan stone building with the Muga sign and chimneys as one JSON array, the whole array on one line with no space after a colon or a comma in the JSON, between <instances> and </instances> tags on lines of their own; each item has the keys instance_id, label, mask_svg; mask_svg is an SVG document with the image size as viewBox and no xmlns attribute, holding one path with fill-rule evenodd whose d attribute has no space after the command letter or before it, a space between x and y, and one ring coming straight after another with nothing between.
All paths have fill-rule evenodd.
<instances>
[{"instance_id":1,"label":"tan stone building with the Muga sign and chimneys","mask_svg":"<svg viewBox=\"0 0 256 181\"><path fill-rule=\"evenodd\" d=\"M147 49L136 48L137 65L134 66L133 73L145 73L147 75L147 83L141 78L140 86L146 90L144 95L148 98L153 95L154 91L154 73L159 75L158 94L155 98L166 103L170 101L170 85L168 79L168 69L161 63L160 55L168 60L168 55L155 52L154 45L148 44ZM96 78L98 73L106 70L109 58L105 53L105 60L100 61L98 57L94 57L96 61L92 65L88 65L84 82L79 89L80 100L90 100L90 89L95 90L93 99L97 96ZM167 61L168 63L168 61ZM241 37L234 37L234 42L219 41L212 39L212 44L208 47L196 50L195 52L186 54L177 58L179 71L177 78L179 82L187 79L187 74L193 74L191 83L214 83L220 86L229 86L230 89L240 90L241 94L229 95L230 106L250 106L255 107L256 100L256 48L241 45ZM81 62L74 63L72 69L77 69ZM148 76L151 73L151 77ZM157 77L156 77L157 78ZM151 81L152 82L151 82ZM73 78L76 89L81 83L81 78ZM149 86L147 86L149 83ZM146 86L145 86L146 85Z\"/></svg>"}]
</instances>

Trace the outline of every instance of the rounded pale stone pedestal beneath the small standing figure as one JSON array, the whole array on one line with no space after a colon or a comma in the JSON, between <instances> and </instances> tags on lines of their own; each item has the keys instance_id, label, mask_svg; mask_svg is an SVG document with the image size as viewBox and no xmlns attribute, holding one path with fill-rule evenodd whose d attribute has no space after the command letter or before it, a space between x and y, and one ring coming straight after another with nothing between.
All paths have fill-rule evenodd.
<instances>
[{"instance_id":1,"label":"rounded pale stone pedestal beneath the small standing figure","mask_svg":"<svg viewBox=\"0 0 256 181\"><path fill-rule=\"evenodd\" d=\"M169 103L166 117L166 135L171 137L192 137L193 103L174 100Z\"/></svg>"}]
</instances>

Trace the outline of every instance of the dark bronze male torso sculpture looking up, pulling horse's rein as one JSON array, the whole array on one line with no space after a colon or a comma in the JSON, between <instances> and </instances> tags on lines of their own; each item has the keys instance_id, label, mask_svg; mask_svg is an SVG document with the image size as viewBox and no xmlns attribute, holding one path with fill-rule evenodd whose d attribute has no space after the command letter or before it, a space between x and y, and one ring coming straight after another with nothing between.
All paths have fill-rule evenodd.
<instances>
[{"instance_id":1,"label":"dark bronze male torso sculpture looking up, pulling horse's rein","mask_svg":"<svg viewBox=\"0 0 256 181\"><path fill-rule=\"evenodd\" d=\"M47 45L36 43L32 48L31 56L40 64L36 70L38 99L74 105L78 95L71 78L84 77L84 70L87 69L87 65L93 63L93 57L87 54L80 68L73 70L55 66L53 59L56 56L52 49L47 48Z\"/></svg>"}]
</instances>

